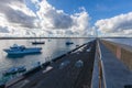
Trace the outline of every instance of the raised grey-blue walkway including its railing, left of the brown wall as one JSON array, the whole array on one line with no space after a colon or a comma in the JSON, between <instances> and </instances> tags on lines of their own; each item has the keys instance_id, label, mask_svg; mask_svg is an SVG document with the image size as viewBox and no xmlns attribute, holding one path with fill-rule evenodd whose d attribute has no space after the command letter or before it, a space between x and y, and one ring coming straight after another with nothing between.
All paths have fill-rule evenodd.
<instances>
[{"instance_id":1,"label":"raised grey-blue walkway including its railing, left of the brown wall","mask_svg":"<svg viewBox=\"0 0 132 88\"><path fill-rule=\"evenodd\" d=\"M132 72L101 42L97 42L91 88L132 88Z\"/></svg>"}]
</instances>

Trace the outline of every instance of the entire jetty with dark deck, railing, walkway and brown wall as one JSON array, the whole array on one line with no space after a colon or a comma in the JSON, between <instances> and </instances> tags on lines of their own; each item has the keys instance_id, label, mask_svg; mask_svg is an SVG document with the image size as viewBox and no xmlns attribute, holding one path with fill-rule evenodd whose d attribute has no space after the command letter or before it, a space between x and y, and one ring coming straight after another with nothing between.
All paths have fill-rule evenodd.
<instances>
[{"instance_id":1,"label":"entire jetty with dark deck, railing, walkway and brown wall","mask_svg":"<svg viewBox=\"0 0 132 88\"><path fill-rule=\"evenodd\" d=\"M132 88L131 46L96 38L0 88Z\"/></svg>"}]
</instances>

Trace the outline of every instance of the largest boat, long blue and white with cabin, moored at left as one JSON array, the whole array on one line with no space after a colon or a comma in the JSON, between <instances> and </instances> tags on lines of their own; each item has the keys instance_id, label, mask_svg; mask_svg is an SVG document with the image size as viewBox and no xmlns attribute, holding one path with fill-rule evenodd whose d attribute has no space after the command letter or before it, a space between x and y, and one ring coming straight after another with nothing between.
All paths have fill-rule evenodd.
<instances>
[{"instance_id":1,"label":"largest boat, long blue and white with cabin, moored at left","mask_svg":"<svg viewBox=\"0 0 132 88\"><path fill-rule=\"evenodd\" d=\"M9 55L21 55L21 54L34 54L34 53L41 53L42 47L25 47L24 45L18 45L14 44L13 46L10 46L10 48L3 50Z\"/></svg>"}]
</instances>

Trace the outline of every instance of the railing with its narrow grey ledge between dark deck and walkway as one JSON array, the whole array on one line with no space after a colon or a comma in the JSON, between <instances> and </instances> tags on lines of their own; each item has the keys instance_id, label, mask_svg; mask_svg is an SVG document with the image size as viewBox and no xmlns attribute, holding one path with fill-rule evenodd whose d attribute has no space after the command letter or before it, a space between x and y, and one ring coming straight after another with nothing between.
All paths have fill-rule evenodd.
<instances>
[{"instance_id":1,"label":"railing with its narrow grey ledge between dark deck and walkway","mask_svg":"<svg viewBox=\"0 0 132 88\"><path fill-rule=\"evenodd\" d=\"M105 66L102 62L102 54L100 50L99 40L97 40L97 46L96 46L96 58L94 65L91 88L107 88Z\"/></svg>"}]
</instances>

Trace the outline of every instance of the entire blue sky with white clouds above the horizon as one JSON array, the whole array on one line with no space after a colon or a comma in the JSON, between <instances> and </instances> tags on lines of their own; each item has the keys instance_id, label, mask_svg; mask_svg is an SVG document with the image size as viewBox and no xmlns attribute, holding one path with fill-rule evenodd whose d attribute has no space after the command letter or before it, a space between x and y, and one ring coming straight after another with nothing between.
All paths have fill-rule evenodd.
<instances>
[{"instance_id":1,"label":"entire blue sky with white clouds above the horizon","mask_svg":"<svg viewBox=\"0 0 132 88\"><path fill-rule=\"evenodd\" d=\"M0 0L1 36L132 36L132 0Z\"/></svg>"}]
</instances>

